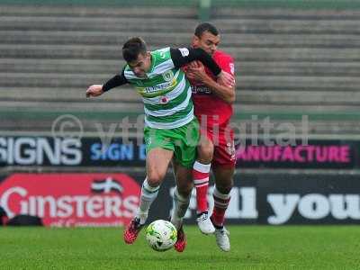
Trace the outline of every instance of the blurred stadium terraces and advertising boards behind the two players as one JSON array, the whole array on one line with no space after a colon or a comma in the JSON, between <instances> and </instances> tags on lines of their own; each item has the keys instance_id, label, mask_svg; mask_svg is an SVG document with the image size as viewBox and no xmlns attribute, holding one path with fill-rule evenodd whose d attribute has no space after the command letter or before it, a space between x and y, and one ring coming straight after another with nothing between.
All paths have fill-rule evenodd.
<instances>
[{"instance_id":1,"label":"blurred stadium terraces and advertising boards behind the two players","mask_svg":"<svg viewBox=\"0 0 360 270\"><path fill-rule=\"evenodd\" d=\"M246 142L228 223L359 223L359 8L330 0L0 1L0 204L50 226L128 222L144 148L139 125L129 134L122 127L141 122L142 105L130 87L90 100L85 89L121 70L129 37L150 49L184 46L199 21L210 21L220 49L235 58L232 121ZM138 143L121 140L128 135ZM277 148L277 158L266 139L296 145ZM167 217L172 178L169 171L150 219Z\"/></svg>"}]
</instances>

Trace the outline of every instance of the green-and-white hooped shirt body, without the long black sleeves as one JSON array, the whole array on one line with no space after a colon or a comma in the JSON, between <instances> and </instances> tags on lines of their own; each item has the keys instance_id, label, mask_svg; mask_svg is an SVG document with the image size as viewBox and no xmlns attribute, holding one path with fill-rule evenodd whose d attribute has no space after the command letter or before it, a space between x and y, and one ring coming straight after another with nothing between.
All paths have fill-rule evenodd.
<instances>
[{"instance_id":1,"label":"green-and-white hooped shirt body, without the long black sleeves","mask_svg":"<svg viewBox=\"0 0 360 270\"><path fill-rule=\"evenodd\" d=\"M147 77L135 76L129 65L124 76L142 96L148 127L175 129L193 120L192 89L183 70L175 67L170 48L151 51Z\"/></svg>"}]
</instances>

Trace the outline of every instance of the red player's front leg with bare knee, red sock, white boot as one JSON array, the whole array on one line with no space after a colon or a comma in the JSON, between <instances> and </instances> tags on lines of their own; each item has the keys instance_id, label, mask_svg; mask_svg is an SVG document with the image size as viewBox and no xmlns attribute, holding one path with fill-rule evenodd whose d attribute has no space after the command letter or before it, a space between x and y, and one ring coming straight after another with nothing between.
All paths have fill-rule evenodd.
<instances>
[{"instance_id":1,"label":"red player's front leg with bare knee, red sock, white boot","mask_svg":"<svg viewBox=\"0 0 360 270\"><path fill-rule=\"evenodd\" d=\"M208 186L211 159L213 154L213 144L206 134L203 134L197 147L197 158L193 164L193 183L196 189L196 213L197 223L202 233L213 233L213 227L208 208Z\"/></svg>"}]
</instances>

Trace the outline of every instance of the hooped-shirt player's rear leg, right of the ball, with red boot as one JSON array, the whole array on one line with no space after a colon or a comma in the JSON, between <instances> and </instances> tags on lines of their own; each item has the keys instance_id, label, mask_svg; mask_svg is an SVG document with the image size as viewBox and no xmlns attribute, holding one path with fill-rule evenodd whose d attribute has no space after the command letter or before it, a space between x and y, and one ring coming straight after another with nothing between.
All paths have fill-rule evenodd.
<instances>
[{"instance_id":1,"label":"hooped-shirt player's rear leg, right of the ball, with red boot","mask_svg":"<svg viewBox=\"0 0 360 270\"><path fill-rule=\"evenodd\" d=\"M175 175L174 211L171 222L177 229L177 240L174 245L177 252L183 252L186 247L186 237L183 228L184 215L189 207L191 193L193 190L192 169L181 166L176 160L173 162Z\"/></svg>"}]
</instances>

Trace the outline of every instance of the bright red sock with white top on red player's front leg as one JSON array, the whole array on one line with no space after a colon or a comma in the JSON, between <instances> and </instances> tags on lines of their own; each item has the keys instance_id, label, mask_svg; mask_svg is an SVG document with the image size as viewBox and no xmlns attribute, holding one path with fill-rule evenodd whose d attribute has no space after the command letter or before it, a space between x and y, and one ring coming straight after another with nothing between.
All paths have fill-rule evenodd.
<instances>
[{"instance_id":1,"label":"bright red sock with white top on red player's front leg","mask_svg":"<svg viewBox=\"0 0 360 270\"><path fill-rule=\"evenodd\" d=\"M193 184L196 188L197 212L208 211L208 186L210 164L195 161L193 164Z\"/></svg>"}]
</instances>

